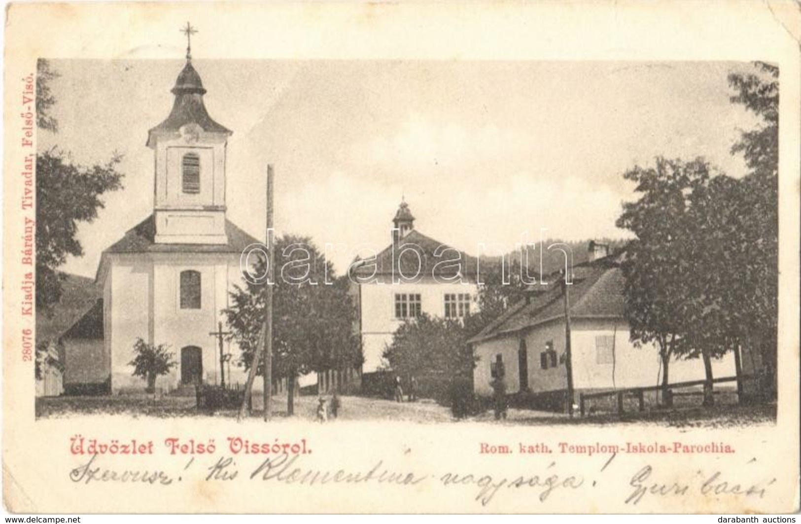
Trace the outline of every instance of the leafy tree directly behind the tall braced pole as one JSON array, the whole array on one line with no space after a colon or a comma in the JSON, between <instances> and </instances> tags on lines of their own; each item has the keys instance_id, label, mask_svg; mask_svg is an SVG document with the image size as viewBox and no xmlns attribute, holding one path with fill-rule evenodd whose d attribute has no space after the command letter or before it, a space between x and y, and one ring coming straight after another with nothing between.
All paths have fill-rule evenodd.
<instances>
[{"instance_id":1,"label":"leafy tree directly behind the tall braced pole","mask_svg":"<svg viewBox=\"0 0 801 524\"><path fill-rule=\"evenodd\" d=\"M292 415L299 374L355 367L363 358L353 332L354 309L347 279L334 278L331 263L308 237L282 236L275 249L272 374L276 379L288 379L288 414ZM265 267L261 260L253 274L266 274ZM331 284L326 284L326 276ZM236 286L231 307L223 311L246 369L253 365L258 345L265 285L248 282L244 288ZM263 365L257 365L257 373L263 375Z\"/></svg>"}]
</instances>

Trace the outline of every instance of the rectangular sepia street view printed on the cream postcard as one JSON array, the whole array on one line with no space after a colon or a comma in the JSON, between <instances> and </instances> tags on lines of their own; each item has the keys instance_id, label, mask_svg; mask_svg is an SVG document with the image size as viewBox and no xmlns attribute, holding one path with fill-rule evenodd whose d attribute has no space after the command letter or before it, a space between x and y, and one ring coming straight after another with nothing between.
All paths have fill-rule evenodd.
<instances>
[{"instance_id":1,"label":"rectangular sepia street view printed on the cream postcard","mask_svg":"<svg viewBox=\"0 0 801 524\"><path fill-rule=\"evenodd\" d=\"M40 416L269 382L320 421L775 420L775 65L204 63L183 32L183 65L38 60Z\"/></svg>"}]
</instances>

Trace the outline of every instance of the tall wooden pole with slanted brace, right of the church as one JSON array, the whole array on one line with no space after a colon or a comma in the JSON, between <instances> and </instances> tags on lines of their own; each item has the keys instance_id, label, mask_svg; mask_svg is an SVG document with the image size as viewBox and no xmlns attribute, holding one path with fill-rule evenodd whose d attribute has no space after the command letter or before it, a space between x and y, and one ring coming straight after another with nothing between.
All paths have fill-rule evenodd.
<instances>
[{"instance_id":1,"label":"tall wooden pole with slanted brace, right of the church","mask_svg":"<svg viewBox=\"0 0 801 524\"><path fill-rule=\"evenodd\" d=\"M259 343L256 345L256 353L253 355L250 373L248 373L248 381L245 382L245 394L242 399L242 405L239 406L239 416L237 420L242 420L245 412L248 409L248 401L251 398L253 390L253 381L256 380L256 369L259 368L264 347L267 346L267 357L264 359L264 420L270 418L272 411L272 276L275 274L272 269L273 260L275 257L273 251L273 238L272 238L272 165L267 166L267 260L268 260L268 280L267 289L265 290L265 299L267 306L264 309L264 320L261 324L261 331L259 334Z\"/></svg>"}]
</instances>

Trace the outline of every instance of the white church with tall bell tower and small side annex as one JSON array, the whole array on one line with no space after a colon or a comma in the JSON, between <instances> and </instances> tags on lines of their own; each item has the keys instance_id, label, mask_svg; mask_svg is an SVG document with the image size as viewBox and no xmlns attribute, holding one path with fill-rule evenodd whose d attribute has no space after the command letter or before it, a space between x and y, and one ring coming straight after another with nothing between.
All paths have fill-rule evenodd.
<instances>
[{"instance_id":1,"label":"white church with tall bell tower and small side annex","mask_svg":"<svg viewBox=\"0 0 801 524\"><path fill-rule=\"evenodd\" d=\"M138 338L175 353L178 365L157 387L219 384L223 365L226 382L244 383L234 365L239 349L230 342L221 349L213 334L225 325L232 285L243 284L239 256L258 242L226 217L231 131L208 114L188 47L171 92L172 111L147 134L155 156L153 212L103 251L96 276L102 298L62 337L67 388L143 389L129 364Z\"/></svg>"}]
</instances>

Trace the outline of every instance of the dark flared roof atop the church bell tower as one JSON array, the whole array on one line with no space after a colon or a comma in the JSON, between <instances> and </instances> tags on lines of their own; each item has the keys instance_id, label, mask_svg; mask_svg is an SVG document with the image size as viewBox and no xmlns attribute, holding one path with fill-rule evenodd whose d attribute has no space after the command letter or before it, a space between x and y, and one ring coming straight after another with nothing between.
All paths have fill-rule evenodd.
<instances>
[{"instance_id":1,"label":"dark flared roof atop the church bell tower","mask_svg":"<svg viewBox=\"0 0 801 524\"><path fill-rule=\"evenodd\" d=\"M224 133L231 135L227 127L216 123L206 111L203 103L203 95L206 93L203 88L203 81L200 75L192 67L191 61L187 60L187 65L175 80L175 87L171 90L175 95L175 102L172 104L172 111L162 123L153 127L147 135L147 145L153 145L152 134L154 131L178 132L187 123L198 124L207 133Z\"/></svg>"}]
</instances>

